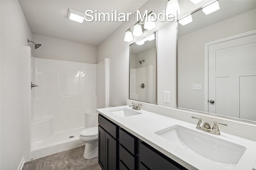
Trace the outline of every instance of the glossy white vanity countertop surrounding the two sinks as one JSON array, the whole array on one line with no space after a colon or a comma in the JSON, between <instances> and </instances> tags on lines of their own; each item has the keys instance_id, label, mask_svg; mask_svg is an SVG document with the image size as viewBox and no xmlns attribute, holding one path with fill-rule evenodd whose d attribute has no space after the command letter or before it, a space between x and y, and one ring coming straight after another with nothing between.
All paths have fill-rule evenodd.
<instances>
[{"instance_id":1,"label":"glossy white vanity countertop surrounding the two sinks","mask_svg":"<svg viewBox=\"0 0 256 170\"><path fill-rule=\"evenodd\" d=\"M138 137L140 140L148 143L150 146L159 150L172 160L178 162L182 166L191 169L200 170L252 170L256 169L256 142L230 135L227 133L222 133L221 135L213 135L207 132L200 131L196 129L196 124L191 124L185 121L180 121L173 119L171 117L166 117L156 113L152 113L146 110L140 110L142 114L133 115L129 117L119 117L111 113L109 110L118 108L131 109L128 106L118 106L118 107L108 107L97 109L97 111L104 117L110 119L118 126L124 128L126 131L130 132L134 136ZM173 143L159 135L155 132L161 129L180 125L189 129L196 129L201 133L206 133L207 135L212 135L214 137L236 143L246 147L242 158L235 166L230 166L226 164L216 163L208 158L205 158L192 150L184 147L178 147L173 145ZM209 152L209 154L211 154Z\"/></svg>"}]
</instances>

